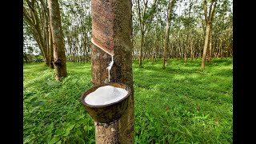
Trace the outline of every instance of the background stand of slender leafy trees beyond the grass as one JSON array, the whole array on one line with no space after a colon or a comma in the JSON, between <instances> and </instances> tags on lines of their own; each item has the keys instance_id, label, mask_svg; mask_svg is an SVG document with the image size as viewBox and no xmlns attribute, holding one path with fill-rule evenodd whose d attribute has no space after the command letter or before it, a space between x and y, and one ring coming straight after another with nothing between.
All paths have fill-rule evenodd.
<instances>
[{"instance_id":1,"label":"background stand of slender leafy trees beyond the grass","mask_svg":"<svg viewBox=\"0 0 256 144\"><path fill-rule=\"evenodd\" d=\"M163 0L133 0L132 44L133 58L142 60L162 58L165 42L166 61L169 58L202 58L206 18L204 2L210 7L212 1L177 0L170 13L169 37L165 41L168 2ZM62 30L68 62L90 61L91 12L89 0L60 0ZM218 0L212 22L211 58L233 55L233 2ZM26 0L24 7L24 38L30 49L41 54L44 61L50 59L48 17L46 0ZM207 10L210 10L208 8ZM32 44L34 43L34 44ZM36 43L36 44L35 44ZM30 54L28 45L24 54ZM209 45L208 45L209 46ZM209 51L209 50L208 50ZM211 56L211 57L209 57ZM24 60L25 61L25 60Z\"/></svg>"}]
</instances>

